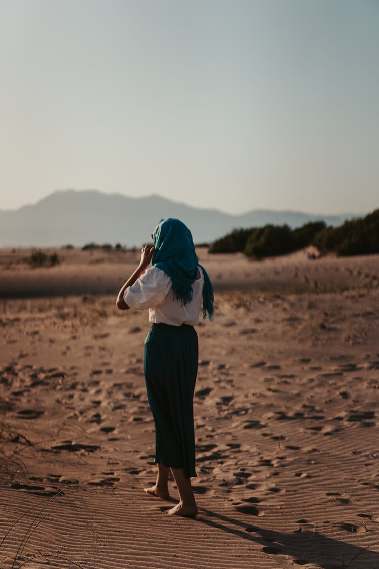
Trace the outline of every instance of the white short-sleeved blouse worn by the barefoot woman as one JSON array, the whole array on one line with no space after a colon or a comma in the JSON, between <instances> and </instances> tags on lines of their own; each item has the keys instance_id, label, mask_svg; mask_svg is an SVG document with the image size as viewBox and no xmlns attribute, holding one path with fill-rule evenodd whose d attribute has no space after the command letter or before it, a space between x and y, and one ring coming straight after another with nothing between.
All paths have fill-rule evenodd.
<instances>
[{"instance_id":1,"label":"white short-sleeved blouse worn by the barefoot woman","mask_svg":"<svg viewBox=\"0 0 379 569\"><path fill-rule=\"evenodd\" d=\"M136 310L149 309L149 321L173 326L195 325L201 310L204 275L199 268L200 278L192 284L192 300L182 305L174 299L172 279L164 270L152 266L124 292L124 301Z\"/></svg>"}]
</instances>

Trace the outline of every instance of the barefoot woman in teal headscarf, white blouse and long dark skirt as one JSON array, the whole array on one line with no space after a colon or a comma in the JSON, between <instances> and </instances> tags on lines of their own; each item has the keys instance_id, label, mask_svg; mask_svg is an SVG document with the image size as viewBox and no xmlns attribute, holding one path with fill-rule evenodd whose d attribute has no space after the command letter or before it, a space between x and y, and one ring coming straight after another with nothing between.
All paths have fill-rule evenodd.
<instances>
[{"instance_id":1,"label":"barefoot woman in teal headscarf, white blouse and long dark skirt","mask_svg":"<svg viewBox=\"0 0 379 569\"><path fill-rule=\"evenodd\" d=\"M155 422L158 472L155 485L145 492L169 498L171 471L180 501L166 513L195 517L190 477L196 476L192 401L198 344L193 326L201 300L203 318L213 319L213 287L198 265L190 230L182 221L161 220L152 238L153 246L142 248L140 264L121 288L116 306L149 308L152 322L144 344L144 375Z\"/></svg>"}]
</instances>

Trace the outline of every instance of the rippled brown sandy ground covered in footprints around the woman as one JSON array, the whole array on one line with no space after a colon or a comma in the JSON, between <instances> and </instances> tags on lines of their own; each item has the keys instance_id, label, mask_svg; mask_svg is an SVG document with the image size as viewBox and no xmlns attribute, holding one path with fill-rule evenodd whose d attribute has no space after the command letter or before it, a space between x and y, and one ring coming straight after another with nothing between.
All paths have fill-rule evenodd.
<instances>
[{"instance_id":1,"label":"rippled brown sandy ground covered in footprints around the woman","mask_svg":"<svg viewBox=\"0 0 379 569\"><path fill-rule=\"evenodd\" d=\"M379 257L199 251L215 320L185 519L143 492L149 324L114 305L137 254L64 255L0 253L0 567L379 567Z\"/></svg>"}]
</instances>

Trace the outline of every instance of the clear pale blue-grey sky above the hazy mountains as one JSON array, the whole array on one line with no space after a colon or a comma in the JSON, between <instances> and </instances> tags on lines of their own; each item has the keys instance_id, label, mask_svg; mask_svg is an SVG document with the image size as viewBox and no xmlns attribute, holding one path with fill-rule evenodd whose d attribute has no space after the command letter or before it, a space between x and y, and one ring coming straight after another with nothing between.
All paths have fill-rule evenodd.
<instances>
[{"instance_id":1,"label":"clear pale blue-grey sky above the hazy mountains","mask_svg":"<svg viewBox=\"0 0 379 569\"><path fill-rule=\"evenodd\" d=\"M0 209L379 208L379 0L0 0Z\"/></svg>"}]
</instances>

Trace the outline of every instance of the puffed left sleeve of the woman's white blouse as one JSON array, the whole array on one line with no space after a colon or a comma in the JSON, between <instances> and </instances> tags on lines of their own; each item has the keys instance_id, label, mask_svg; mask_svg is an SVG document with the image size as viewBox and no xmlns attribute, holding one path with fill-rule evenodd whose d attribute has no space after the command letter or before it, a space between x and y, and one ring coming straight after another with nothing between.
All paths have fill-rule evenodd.
<instances>
[{"instance_id":1,"label":"puffed left sleeve of the woman's white blouse","mask_svg":"<svg viewBox=\"0 0 379 569\"><path fill-rule=\"evenodd\" d=\"M168 295L171 277L159 267L149 267L132 286L124 292L124 301L130 308L145 310L160 304Z\"/></svg>"}]
</instances>

